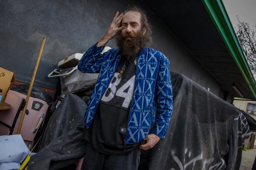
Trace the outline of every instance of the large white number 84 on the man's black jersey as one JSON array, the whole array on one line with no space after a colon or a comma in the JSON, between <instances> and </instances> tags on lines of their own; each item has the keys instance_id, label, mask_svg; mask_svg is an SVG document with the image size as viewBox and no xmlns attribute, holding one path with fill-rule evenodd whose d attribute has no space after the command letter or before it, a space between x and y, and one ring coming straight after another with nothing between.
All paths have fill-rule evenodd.
<instances>
[{"instance_id":1,"label":"large white number 84 on the man's black jersey","mask_svg":"<svg viewBox=\"0 0 256 170\"><path fill-rule=\"evenodd\" d=\"M113 99L113 97L115 95L119 96L119 97L123 97L125 98L125 100L123 101L122 107L129 107L130 101L132 99L133 96L133 88L134 88L134 80L135 80L135 75L133 77L131 77L125 84L123 84L122 87L120 87L117 90L117 85L120 83L121 78L118 78L117 76L120 73L114 73L113 78L111 79L111 82L107 88L107 90L105 91L105 93L103 94L101 100L102 101L110 101L111 99ZM113 82L113 80L115 79L115 82ZM124 92L127 88L129 87L127 92ZM108 89L110 89L110 93L108 96L106 96L106 92L109 91Z\"/></svg>"}]
</instances>

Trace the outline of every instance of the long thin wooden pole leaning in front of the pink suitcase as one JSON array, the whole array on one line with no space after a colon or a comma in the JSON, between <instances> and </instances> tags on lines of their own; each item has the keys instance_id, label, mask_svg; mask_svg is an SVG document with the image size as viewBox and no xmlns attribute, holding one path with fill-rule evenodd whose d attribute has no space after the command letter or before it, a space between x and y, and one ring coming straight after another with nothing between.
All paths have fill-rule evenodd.
<instances>
[{"instance_id":1,"label":"long thin wooden pole leaning in front of the pink suitcase","mask_svg":"<svg viewBox=\"0 0 256 170\"><path fill-rule=\"evenodd\" d=\"M39 50L39 53L38 53L38 56L37 56L37 61L35 63L33 75L32 75L31 81L30 81L29 90L27 92L26 104L25 104L25 107L24 107L24 109L22 111L22 114L21 114L21 120L19 122L19 128L18 128L17 134L20 134L20 132L21 132L21 126L22 126L22 123L23 123L23 119L24 119L24 116L25 116L26 109L27 109L27 103L29 101L29 97L30 97L30 94L31 94L31 90L32 90L32 87L33 87L34 80L35 80L35 74L37 74L37 68L38 68L39 61L40 61L40 58L41 58L41 55L42 55L42 52L43 52L43 46L44 45L45 45L45 37L43 37L42 44L41 44L41 47L40 47L40 50Z\"/></svg>"}]
</instances>

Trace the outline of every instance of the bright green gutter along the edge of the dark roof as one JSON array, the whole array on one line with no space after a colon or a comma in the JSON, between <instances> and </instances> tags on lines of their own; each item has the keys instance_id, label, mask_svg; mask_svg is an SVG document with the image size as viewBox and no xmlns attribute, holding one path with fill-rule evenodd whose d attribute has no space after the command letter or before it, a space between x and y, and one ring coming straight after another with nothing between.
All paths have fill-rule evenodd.
<instances>
[{"instance_id":1,"label":"bright green gutter along the edge of the dark roof","mask_svg":"<svg viewBox=\"0 0 256 170\"><path fill-rule=\"evenodd\" d=\"M201 0L256 99L256 86L222 0Z\"/></svg>"}]
</instances>

